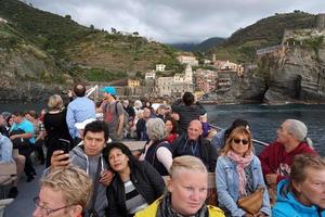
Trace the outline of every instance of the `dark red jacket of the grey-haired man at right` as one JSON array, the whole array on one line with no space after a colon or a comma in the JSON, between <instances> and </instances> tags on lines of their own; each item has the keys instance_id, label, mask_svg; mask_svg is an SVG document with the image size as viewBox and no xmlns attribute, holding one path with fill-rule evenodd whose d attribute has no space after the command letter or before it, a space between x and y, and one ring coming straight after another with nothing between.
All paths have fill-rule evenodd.
<instances>
[{"instance_id":1,"label":"dark red jacket of the grey-haired man at right","mask_svg":"<svg viewBox=\"0 0 325 217\"><path fill-rule=\"evenodd\" d=\"M285 179L290 174L290 166L294 162L294 157L297 154L310 153L317 155L317 153L311 149L306 142L301 142L295 150L287 153L284 145L278 142L273 142L266 146L259 155L263 175L278 174L277 182Z\"/></svg>"}]
</instances>

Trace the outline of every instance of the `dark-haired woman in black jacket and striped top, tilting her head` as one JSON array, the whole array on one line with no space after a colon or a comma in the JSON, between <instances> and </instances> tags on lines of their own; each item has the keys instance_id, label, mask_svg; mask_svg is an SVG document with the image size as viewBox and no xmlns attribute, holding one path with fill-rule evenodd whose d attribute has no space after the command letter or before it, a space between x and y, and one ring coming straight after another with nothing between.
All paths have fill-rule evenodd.
<instances>
[{"instance_id":1,"label":"dark-haired woman in black jacket and striped top, tilting her head","mask_svg":"<svg viewBox=\"0 0 325 217\"><path fill-rule=\"evenodd\" d=\"M138 161L125 144L112 142L103 153L115 173L107 189L108 216L133 216L162 195L161 176L146 161Z\"/></svg>"}]
</instances>

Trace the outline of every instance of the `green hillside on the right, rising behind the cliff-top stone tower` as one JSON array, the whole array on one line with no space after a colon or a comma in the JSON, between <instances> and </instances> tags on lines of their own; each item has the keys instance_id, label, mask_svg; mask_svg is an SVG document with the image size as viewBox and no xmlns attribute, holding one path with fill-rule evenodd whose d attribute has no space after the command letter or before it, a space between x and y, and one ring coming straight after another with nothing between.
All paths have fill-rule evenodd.
<instances>
[{"instance_id":1,"label":"green hillside on the right, rising behind the cliff-top stone tower","mask_svg":"<svg viewBox=\"0 0 325 217\"><path fill-rule=\"evenodd\" d=\"M294 13L275 14L235 31L226 41L217 46L217 59L229 59L235 62L251 62L257 49L281 43L285 29L314 27L313 14L295 11Z\"/></svg>"}]
</instances>

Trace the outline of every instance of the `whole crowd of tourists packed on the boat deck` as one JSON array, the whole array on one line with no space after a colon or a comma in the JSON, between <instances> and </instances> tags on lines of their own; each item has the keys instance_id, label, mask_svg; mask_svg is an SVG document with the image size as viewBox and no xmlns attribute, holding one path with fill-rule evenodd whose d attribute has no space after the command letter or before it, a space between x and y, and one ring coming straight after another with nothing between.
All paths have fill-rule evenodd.
<instances>
[{"instance_id":1,"label":"whole crowd of tourists packed on the boat deck","mask_svg":"<svg viewBox=\"0 0 325 217\"><path fill-rule=\"evenodd\" d=\"M114 87L100 102L86 91L76 85L67 104L51 95L40 115L0 115L0 164L17 174L8 196L17 196L23 171L34 180L31 155L44 165L34 216L325 216L325 159L302 122L285 120L257 155L247 120L216 130L191 92L155 110L118 99Z\"/></svg>"}]
</instances>

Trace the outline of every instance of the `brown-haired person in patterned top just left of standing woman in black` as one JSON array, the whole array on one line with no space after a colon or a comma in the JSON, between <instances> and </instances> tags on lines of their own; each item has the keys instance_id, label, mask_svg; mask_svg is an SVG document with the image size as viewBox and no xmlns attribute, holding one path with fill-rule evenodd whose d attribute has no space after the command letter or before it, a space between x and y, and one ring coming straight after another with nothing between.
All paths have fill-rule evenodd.
<instances>
[{"instance_id":1,"label":"brown-haired person in patterned top just left of standing woman in black","mask_svg":"<svg viewBox=\"0 0 325 217\"><path fill-rule=\"evenodd\" d=\"M39 120L38 114L32 110L25 113L25 118L28 119L34 125L34 131L35 131L34 150L38 154L40 164L44 165L46 163L46 156L43 151L44 136L46 136L44 124Z\"/></svg>"}]
</instances>

